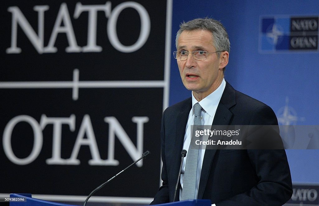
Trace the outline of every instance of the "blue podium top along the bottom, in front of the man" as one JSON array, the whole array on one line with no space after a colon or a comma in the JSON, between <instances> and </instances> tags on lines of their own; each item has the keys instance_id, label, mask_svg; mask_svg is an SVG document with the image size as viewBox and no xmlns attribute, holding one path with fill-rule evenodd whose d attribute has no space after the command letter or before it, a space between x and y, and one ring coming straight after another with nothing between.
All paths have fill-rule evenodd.
<instances>
[{"instance_id":1,"label":"blue podium top along the bottom, in front of the man","mask_svg":"<svg viewBox=\"0 0 319 206\"><path fill-rule=\"evenodd\" d=\"M24 198L26 202L10 202L10 206L76 206L69 204L62 204L56 202L49 202L45 200L32 198L31 194L10 194L10 197ZM157 206L210 206L210 200L186 200L181 202L170 202L165 204L158 204Z\"/></svg>"}]
</instances>

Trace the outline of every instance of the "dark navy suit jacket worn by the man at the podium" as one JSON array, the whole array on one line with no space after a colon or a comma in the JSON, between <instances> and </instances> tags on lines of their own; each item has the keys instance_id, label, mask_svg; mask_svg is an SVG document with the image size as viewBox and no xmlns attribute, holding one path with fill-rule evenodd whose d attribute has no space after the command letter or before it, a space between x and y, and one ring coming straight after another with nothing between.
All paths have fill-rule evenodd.
<instances>
[{"instance_id":1,"label":"dark navy suit jacket worn by the man at the podium","mask_svg":"<svg viewBox=\"0 0 319 206\"><path fill-rule=\"evenodd\" d=\"M173 202L192 100L168 107L162 117L163 185L151 204ZM226 83L213 125L278 125L272 109ZM292 195L285 150L206 150L198 199L224 205L282 205ZM175 201L179 199L179 189Z\"/></svg>"}]
</instances>

